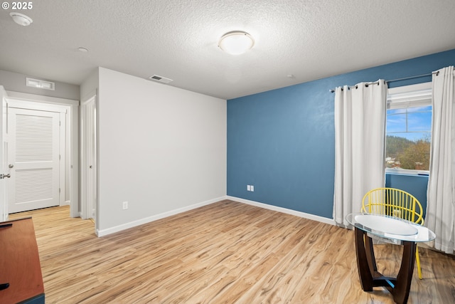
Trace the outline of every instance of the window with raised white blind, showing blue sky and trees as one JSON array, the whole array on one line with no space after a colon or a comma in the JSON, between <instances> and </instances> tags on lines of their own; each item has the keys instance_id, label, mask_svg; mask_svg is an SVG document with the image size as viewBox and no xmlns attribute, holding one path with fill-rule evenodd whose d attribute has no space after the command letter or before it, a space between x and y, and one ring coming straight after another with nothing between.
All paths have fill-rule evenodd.
<instances>
[{"instance_id":1,"label":"window with raised white blind, showing blue sky and trees","mask_svg":"<svg viewBox=\"0 0 455 304\"><path fill-rule=\"evenodd\" d=\"M421 83L388 90L385 167L390 169L386 169L387 172L428 173L431 85Z\"/></svg>"}]
</instances>

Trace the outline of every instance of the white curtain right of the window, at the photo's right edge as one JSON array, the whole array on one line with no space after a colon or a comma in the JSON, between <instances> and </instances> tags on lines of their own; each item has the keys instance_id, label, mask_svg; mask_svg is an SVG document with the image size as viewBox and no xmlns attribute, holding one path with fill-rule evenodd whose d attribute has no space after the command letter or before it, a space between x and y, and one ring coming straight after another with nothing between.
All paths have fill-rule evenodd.
<instances>
[{"instance_id":1,"label":"white curtain right of the window, at the photo's right edge","mask_svg":"<svg viewBox=\"0 0 455 304\"><path fill-rule=\"evenodd\" d=\"M425 226L436 234L434 248L455 247L455 86L454 67L433 74L432 148Z\"/></svg>"}]
</instances>

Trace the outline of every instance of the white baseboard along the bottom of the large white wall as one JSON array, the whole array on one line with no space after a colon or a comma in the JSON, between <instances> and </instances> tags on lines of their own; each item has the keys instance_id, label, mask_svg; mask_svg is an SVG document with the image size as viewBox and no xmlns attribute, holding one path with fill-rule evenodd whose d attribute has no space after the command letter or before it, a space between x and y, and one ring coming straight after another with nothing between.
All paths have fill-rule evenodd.
<instances>
[{"instance_id":1,"label":"white baseboard along the bottom of the large white wall","mask_svg":"<svg viewBox=\"0 0 455 304\"><path fill-rule=\"evenodd\" d=\"M168 217L168 216L173 216L173 215L185 212L185 211L190 211L190 210L199 208L201 206L213 204L213 203L215 203L217 201L222 201L223 199L226 199L226 196L221 196L221 197L218 197L216 199L210 199L208 201L200 202L198 204L193 204L193 205L185 206L185 207L182 207L182 208L179 208L179 209L166 211L166 212L163 212L161 214L156 214L154 216L146 217L144 219L138 219L137 221L130 221L129 223L122 224L122 225L119 225L119 226L114 226L114 227L111 227L111 228L108 228L108 229L97 230L96 233L97 233L97 236L107 236L108 234L114 234L115 232L119 232L119 231L122 231L122 230L125 230L125 229L129 229L129 228L133 228L133 227L136 227L136 226L140 226L140 225L143 225L143 224L147 224L147 223L150 223L151 221L156 221L158 219L164 219L165 217Z\"/></svg>"}]
</instances>

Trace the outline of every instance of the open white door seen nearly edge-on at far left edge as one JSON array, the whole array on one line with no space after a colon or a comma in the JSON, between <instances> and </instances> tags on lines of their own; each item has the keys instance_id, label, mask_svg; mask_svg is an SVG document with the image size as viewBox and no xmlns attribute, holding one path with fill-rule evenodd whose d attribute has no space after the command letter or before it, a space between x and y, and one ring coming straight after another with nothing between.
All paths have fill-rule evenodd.
<instances>
[{"instance_id":1,"label":"open white door seen nearly edge-on at far left edge","mask_svg":"<svg viewBox=\"0 0 455 304\"><path fill-rule=\"evenodd\" d=\"M4 174L7 174L8 169L6 165L6 92L3 86L0 85L0 101L1 101L1 112L0 112L0 221L8 220L8 204L6 204L7 192L6 192L6 179Z\"/></svg>"}]
</instances>

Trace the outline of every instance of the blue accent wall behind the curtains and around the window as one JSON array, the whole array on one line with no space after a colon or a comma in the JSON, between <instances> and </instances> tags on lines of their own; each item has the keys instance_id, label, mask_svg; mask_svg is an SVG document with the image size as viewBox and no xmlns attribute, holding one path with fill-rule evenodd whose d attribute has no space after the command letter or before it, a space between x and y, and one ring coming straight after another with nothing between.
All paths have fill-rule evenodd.
<instances>
[{"instance_id":1,"label":"blue accent wall behind the curtains and around the window","mask_svg":"<svg viewBox=\"0 0 455 304\"><path fill-rule=\"evenodd\" d=\"M332 219L335 129L329 90L448 65L455 65L455 50L228 100L228 195ZM395 81L389 88L431 80ZM254 192L247 191L248 184Z\"/></svg>"}]
</instances>

